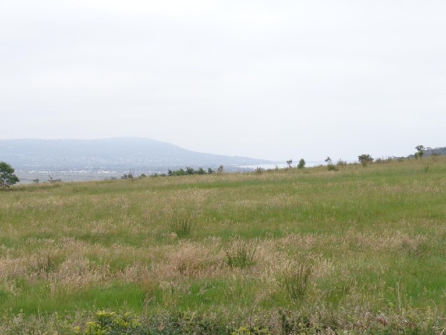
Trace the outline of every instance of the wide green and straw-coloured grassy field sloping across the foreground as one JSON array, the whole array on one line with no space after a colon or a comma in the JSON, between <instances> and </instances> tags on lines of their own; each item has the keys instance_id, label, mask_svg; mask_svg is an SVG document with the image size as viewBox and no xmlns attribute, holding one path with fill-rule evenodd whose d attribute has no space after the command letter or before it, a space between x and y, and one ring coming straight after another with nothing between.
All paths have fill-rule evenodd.
<instances>
[{"instance_id":1,"label":"wide green and straw-coloured grassy field sloping across the foreground","mask_svg":"<svg viewBox=\"0 0 446 335\"><path fill-rule=\"evenodd\" d=\"M0 192L0 333L443 334L446 159L337 168Z\"/></svg>"}]
</instances>

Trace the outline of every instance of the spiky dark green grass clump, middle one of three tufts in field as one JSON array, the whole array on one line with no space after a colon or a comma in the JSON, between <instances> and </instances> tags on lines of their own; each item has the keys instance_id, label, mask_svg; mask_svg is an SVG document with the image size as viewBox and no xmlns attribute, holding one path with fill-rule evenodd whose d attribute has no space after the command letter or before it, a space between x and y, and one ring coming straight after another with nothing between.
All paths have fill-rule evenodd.
<instances>
[{"instance_id":1,"label":"spiky dark green grass clump, middle one of three tufts in field","mask_svg":"<svg viewBox=\"0 0 446 335\"><path fill-rule=\"evenodd\" d=\"M226 262L230 267L247 267L254 264L254 255L257 250L259 240L249 241L240 237L234 239L226 247Z\"/></svg>"}]
</instances>

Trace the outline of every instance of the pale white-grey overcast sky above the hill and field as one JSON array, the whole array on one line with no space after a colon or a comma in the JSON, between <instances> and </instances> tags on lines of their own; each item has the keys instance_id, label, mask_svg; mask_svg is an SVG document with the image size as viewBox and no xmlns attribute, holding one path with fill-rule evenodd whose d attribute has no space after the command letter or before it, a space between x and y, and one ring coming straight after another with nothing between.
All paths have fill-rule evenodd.
<instances>
[{"instance_id":1,"label":"pale white-grey overcast sky above the hill and field","mask_svg":"<svg viewBox=\"0 0 446 335\"><path fill-rule=\"evenodd\" d=\"M445 147L445 17L444 0L0 0L0 138L278 161Z\"/></svg>"}]
</instances>

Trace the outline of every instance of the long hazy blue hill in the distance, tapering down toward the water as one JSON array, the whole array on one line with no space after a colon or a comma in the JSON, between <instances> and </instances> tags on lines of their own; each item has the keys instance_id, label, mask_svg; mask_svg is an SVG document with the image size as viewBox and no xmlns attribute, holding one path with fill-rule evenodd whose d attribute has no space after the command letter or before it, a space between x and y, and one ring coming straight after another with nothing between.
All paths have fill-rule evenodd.
<instances>
[{"instance_id":1,"label":"long hazy blue hill in the distance, tapering down toward the water","mask_svg":"<svg viewBox=\"0 0 446 335\"><path fill-rule=\"evenodd\" d=\"M268 164L255 158L203 154L139 137L102 140L0 140L0 161L17 170L214 168Z\"/></svg>"}]
</instances>

